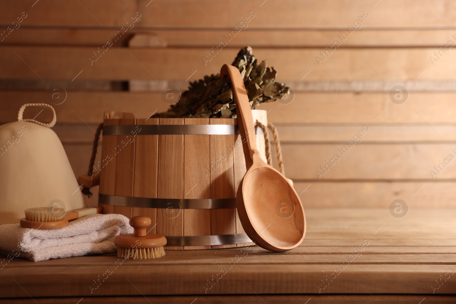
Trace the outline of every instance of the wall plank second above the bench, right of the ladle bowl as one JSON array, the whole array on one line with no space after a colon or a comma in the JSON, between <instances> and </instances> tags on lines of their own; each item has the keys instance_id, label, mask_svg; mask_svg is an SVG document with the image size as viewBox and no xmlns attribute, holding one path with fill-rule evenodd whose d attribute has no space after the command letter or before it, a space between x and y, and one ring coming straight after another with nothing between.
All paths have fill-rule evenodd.
<instances>
[{"instance_id":1,"label":"wall plank second above the bench, right of the ladle bowl","mask_svg":"<svg viewBox=\"0 0 456 304\"><path fill-rule=\"evenodd\" d=\"M357 146L358 145L358 146ZM342 147L345 147L342 150ZM348 145L350 147L350 145ZM455 179L456 162L448 160L455 144L286 144L286 174L294 180L423 180ZM348 150L348 151L347 151ZM336 156L340 160L336 160ZM448 165L440 165L445 161ZM330 165L326 165L326 161ZM333 163L333 165L331 165ZM440 165L440 169L434 166ZM325 170L321 166L327 166ZM322 175L317 175L319 170ZM430 170L435 175L430 174ZM438 171L438 172L437 172Z\"/></svg>"}]
</instances>

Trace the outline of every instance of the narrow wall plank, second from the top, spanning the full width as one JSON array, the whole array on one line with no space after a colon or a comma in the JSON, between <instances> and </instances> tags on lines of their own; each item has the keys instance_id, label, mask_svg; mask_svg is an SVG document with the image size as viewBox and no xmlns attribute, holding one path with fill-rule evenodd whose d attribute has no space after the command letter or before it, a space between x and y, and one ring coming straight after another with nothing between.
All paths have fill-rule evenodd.
<instances>
[{"instance_id":1,"label":"narrow wall plank, second from the top, spanning the full width","mask_svg":"<svg viewBox=\"0 0 456 304\"><path fill-rule=\"evenodd\" d=\"M0 31L5 26L0 25ZM104 46L112 39L116 29L83 29L83 28L31 28L21 27L20 31L13 31L3 41L2 45L35 45L35 46ZM229 42L230 47L321 47L332 46L334 40L340 39L342 30L290 30L290 29L250 29L242 31ZM118 41L113 41L112 47L128 46L130 39L135 35L155 36L162 45L167 47L207 47L208 50L220 44L223 35L229 33L226 29L194 29L194 30L146 30L135 27L122 35ZM392 33L394 33L392 35ZM345 47L440 47L448 45L454 38L453 30L435 29L396 29L381 30L363 27L353 33L350 39L343 41Z\"/></svg>"}]
</instances>

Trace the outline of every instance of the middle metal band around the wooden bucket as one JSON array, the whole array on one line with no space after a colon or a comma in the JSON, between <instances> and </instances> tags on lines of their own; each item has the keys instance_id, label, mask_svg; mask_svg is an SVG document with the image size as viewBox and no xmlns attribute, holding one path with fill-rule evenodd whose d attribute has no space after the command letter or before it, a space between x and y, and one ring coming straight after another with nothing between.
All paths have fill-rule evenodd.
<instances>
[{"instance_id":1,"label":"middle metal band around the wooden bucket","mask_svg":"<svg viewBox=\"0 0 456 304\"><path fill-rule=\"evenodd\" d=\"M179 199L150 198L99 194L100 204L141 208L226 209L236 208L235 198Z\"/></svg>"}]
</instances>

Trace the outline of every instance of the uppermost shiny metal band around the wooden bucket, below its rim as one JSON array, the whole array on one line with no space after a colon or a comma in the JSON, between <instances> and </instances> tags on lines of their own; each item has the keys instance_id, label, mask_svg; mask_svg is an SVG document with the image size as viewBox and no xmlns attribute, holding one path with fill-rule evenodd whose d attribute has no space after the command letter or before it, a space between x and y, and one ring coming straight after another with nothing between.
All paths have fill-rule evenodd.
<instances>
[{"instance_id":1,"label":"uppermost shiny metal band around the wooden bucket, below its rim","mask_svg":"<svg viewBox=\"0 0 456 304\"><path fill-rule=\"evenodd\" d=\"M140 127L140 131L136 129ZM141 124L103 126L103 135L234 135L239 133L235 124ZM255 134L263 134L255 126Z\"/></svg>"}]
</instances>

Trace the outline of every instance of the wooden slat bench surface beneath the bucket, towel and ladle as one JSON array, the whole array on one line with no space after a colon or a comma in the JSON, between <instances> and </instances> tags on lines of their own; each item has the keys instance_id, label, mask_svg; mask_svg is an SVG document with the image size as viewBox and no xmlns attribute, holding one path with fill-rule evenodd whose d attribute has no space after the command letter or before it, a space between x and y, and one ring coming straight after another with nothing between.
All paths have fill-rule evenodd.
<instances>
[{"instance_id":1,"label":"wooden slat bench surface beneath the bucket, towel and ladle","mask_svg":"<svg viewBox=\"0 0 456 304\"><path fill-rule=\"evenodd\" d=\"M304 242L285 253L256 246L168 250L164 258L117 264L114 254L13 258L0 270L0 303L456 301L455 210L417 210L410 202L403 218L388 208L308 209L306 216Z\"/></svg>"}]
</instances>

